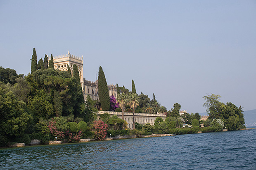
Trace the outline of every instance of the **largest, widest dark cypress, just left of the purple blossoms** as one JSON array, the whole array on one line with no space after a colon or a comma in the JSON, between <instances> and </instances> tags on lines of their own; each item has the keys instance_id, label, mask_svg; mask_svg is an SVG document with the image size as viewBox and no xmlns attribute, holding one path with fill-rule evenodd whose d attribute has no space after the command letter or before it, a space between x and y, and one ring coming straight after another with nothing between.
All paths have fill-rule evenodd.
<instances>
[{"instance_id":1,"label":"largest, widest dark cypress, just left of the purple blossoms","mask_svg":"<svg viewBox=\"0 0 256 170\"><path fill-rule=\"evenodd\" d=\"M110 108L109 101L109 88L107 87L107 81L102 67L100 66L98 76L98 88L99 88L99 99L103 111L108 111Z\"/></svg>"}]
</instances>

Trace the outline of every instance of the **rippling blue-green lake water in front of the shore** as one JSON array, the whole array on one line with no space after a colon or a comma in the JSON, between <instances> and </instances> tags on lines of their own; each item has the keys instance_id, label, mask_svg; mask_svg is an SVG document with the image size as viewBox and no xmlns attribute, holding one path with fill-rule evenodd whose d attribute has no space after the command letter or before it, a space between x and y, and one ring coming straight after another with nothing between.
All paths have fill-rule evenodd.
<instances>
[{"instance_id":1,"label":"rippling blue-green lake water in front of the shore","mask_svg":"<svg viewBox=\"0 0 256 170\"><path fill-rule=\"evenodd\" d=\"M256 129L1 149L0 169L256 170Z\"/></svg>"}]
</instances>

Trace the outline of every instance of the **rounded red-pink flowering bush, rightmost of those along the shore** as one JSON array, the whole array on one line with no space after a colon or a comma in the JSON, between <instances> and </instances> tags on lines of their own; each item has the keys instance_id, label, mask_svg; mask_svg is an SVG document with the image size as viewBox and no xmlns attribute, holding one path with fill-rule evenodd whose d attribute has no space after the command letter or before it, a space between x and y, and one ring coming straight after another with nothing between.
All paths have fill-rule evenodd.
<instances>
[{"instance_id":1,"label":"rounded red-pink flowering bush, rightmost of those along the shore","mask_svg":"<svg viewBox=\"0 0 256 170\"><path fill-rule=\"evenodd\" d=\"M102 120L94 121L92 132L99 140L103 140L107 136L107 124Z\"/></svg>"}]
</instances>

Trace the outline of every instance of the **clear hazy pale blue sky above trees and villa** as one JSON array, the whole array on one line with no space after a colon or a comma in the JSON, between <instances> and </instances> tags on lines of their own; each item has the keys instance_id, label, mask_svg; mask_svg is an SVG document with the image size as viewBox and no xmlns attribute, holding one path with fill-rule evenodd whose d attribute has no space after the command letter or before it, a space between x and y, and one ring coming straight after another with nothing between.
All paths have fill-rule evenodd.
<instances>
[{"instance_id":1,"label":"clear hazy pale blue sky above trees and villa","mask_svg":"<svg viewBox=\"0 0 256 170\"><path fill-rule=\"evenodd\" d=\"M31 71L31 57L83 55L95 81L153 93L168 110L204 113L219 94L256 109L255 0L0 1L0 66Z\"/></svg>"}]
</instances>

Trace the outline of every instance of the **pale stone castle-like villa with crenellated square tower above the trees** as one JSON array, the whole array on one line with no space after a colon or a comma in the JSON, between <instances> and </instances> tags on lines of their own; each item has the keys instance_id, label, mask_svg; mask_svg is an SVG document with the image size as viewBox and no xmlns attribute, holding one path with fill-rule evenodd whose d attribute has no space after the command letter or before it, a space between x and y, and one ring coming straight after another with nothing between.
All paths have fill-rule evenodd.
<instances>
[{"instance_id":1,"label":"pale stone castle-like villa with crenellated square tower above the trees","mask_svg":"<svg viewBox=\"0 0 256 170\"><path fill-rule=\"evenodd\" d=\"M49 58L48 58L49 60ZM66 55L57 55L53 56L53 67L55 69L59 69L60 71L68 71L68 65L71 70L71 75L73 76L73 65L76 64L79 76L80 76L80 83L83 90L83 97L84 99L87 98L89 95L92 100L99 100L99 91L98 91L98 80L95 82L91 82L85 80L83 77L83 55L82 57L78 57L75 55L71 55L69 52ZM108 85L109 88L109 96L117 97L116 93L116 85Z\"/></svg>"}]
</instances>

